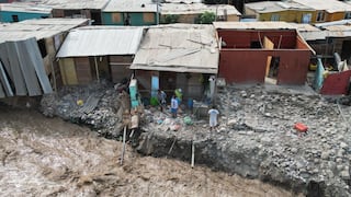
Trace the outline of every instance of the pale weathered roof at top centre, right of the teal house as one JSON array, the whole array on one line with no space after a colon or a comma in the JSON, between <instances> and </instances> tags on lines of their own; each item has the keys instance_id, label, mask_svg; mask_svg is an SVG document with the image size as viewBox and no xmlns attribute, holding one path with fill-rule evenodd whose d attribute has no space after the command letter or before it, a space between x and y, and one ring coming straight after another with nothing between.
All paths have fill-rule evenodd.
<instances>
[{"instance_id":1,"label":"pale weathered roof at top centre, right of the teal house","mask_svg":"<svg viewBox=\"0 0 351 197\"><path fill-rule=\"evenodd\" d=\"M204 3L162 3L160 7L161 14L199 14L205 11L207 12L217 12L217 15L235 14L241 15L241 13L230 4L204 4Z\"/></svg>"}]
</instances>

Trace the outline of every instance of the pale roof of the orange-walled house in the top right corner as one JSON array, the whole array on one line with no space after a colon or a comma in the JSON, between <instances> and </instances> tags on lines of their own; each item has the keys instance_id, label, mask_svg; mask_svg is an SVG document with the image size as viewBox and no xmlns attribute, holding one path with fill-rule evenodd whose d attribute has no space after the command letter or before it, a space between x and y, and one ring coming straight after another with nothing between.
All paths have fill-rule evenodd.
<instances>
[{"instance_id":1,"label":"pale roof of the orange-walled house in the top right corner","mask_svg":"<svg viewBox=\"0 0 351 197\"><path fill-rule=\"evenodd\" d=\"M351 11L351 5L338 0L292 0L315 10L325 10L329 13Z\"/></svg>"}]
</instances>

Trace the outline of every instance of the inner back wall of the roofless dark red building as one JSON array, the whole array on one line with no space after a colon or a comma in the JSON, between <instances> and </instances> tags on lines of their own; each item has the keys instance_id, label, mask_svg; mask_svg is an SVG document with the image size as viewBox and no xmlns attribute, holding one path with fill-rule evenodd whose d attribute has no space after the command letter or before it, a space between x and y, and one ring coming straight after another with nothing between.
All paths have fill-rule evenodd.
<instances>
[{"instance_id":1,"label":"inner back wall of the roofless dark red building","mask_svg":"<svg viewBox=\"0 0 351 197\"><path fill-rule=\"evenodd\" d=\"M295 48L296 32L295 30L276 30L276 31L257 31L257 30L218 30L218 37L226 43L224 48L250 48L252 40L263 43L264 36L269 37L274 43L274 48Z\"/></svg>"}]
</instances>

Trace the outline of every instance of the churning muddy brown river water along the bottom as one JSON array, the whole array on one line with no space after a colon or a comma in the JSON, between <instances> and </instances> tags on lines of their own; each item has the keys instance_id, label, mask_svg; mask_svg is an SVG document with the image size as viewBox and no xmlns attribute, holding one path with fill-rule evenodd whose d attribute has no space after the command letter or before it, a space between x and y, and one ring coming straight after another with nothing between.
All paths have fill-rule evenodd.
<instances>
[{"instance_id":1,"label":"churning muddy brown river water along the bottom","mask_svg":"<svg viewBox=\"0 0 351 197\"><path fill-rule=\"evenodd\" d=\"M141 157L86 127L0 106L0 196L293 196L189 163Z\"/></svg>"}]
</instances>

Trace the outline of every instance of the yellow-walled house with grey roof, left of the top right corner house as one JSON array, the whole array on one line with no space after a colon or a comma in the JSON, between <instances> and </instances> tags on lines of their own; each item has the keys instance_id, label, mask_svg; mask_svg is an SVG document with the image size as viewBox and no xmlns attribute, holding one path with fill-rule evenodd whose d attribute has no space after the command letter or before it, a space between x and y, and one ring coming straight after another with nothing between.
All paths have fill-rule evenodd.
<instances>
[{"instance_id":1,"label":"yellow-walled house with grey roof, left of the top right corner house","mask_svg":"<svg viewBox=\"0 0 351 197\"><path fill-rule=\"evenodd\" d=\"M310 23L315 10L293 1L261 1L245 4L246 16L258 21Z\"/></svg>"}]
</instances>

